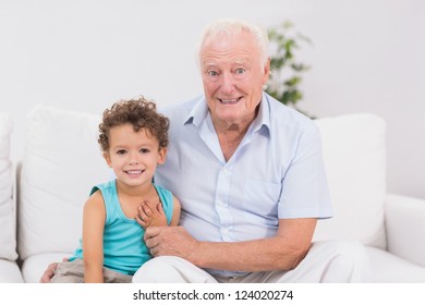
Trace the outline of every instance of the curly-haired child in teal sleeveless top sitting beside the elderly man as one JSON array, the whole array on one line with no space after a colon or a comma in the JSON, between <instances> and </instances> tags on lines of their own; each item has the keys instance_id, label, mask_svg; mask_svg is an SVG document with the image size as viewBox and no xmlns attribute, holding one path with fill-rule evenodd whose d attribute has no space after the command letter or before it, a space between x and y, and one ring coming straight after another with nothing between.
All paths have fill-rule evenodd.
<instances>
[{"instance_id":1,"label":"curly-haired child in teal sleeveless top sitting beside the elderly man","mask_svg":"<svg viewBox=\"0 0 425 305\"><path fill-rule=\"evenodd\" d=\"M98 142L116 179L93 187L84 206L83 237L51 282L131 282L148 259L150 225L178 225L180 202L153 183L166 160L169 120L141 97L105 110Z\"/></svg>"}]
</instances>

